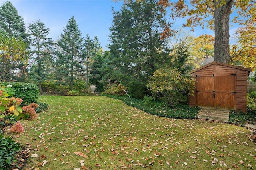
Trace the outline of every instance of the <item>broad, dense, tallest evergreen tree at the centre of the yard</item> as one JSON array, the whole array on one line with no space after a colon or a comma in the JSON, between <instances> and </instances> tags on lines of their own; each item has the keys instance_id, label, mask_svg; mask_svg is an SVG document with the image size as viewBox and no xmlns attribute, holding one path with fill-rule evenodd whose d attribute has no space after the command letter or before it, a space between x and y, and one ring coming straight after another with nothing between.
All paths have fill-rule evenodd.
<instances>
[{"instance_id":1,"label":"broad, dense, tallest evergreen tree at the centre of the yard","mask_svg":"<svg viewBox=\"0 0 256 170\"><path fill-rule=\"evenodd\" d=\"M109 71L134 97L142 98L149 76L170 63L166 44L172 31L166 11L158 0L131 0L113 14L108 47L115 69Z\"/></svg>"}]
</instances>

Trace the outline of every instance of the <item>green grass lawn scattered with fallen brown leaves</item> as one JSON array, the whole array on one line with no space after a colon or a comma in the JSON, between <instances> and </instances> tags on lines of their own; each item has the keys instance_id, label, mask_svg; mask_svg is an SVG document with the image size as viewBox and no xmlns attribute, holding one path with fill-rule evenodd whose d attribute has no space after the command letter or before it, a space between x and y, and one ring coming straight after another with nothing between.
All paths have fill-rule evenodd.
<instances>
[{"instance_id":1,"label":"green grass lawn scattered with fallen brown leaves","mask_svg":"<svg viewBox=\"0 0 256 170\"><path fill-rule=\"evenodd\" d=\"M40 96L50 108L14 140L23 169L256 169L251 131L226 123L157 117L104 96Z\"/></svg>"}]
</instances>

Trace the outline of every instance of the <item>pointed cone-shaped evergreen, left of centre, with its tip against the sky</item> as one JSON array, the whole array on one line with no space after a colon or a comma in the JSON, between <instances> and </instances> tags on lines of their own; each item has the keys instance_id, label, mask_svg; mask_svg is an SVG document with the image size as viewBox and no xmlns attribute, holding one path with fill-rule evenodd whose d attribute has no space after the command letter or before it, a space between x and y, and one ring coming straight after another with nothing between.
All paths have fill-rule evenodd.
<instances>
[{"instance_id":1,"label":"pointed cone-shaped evergreen, left of centre, with its tip against the sky","mask_svg":"<svg viewBox=\"0 0 256 170\"><path fill-rule=\"evenodd\" d=\"M62 76L68 76L70 89L73 88L74 76L80 75L84 70L84 57L82 56L81 32L78 29L76 20L72 16L63 29L57 43L60 50L57 51L57 64L59 64Z\"/></svg>"}]
</instances>

